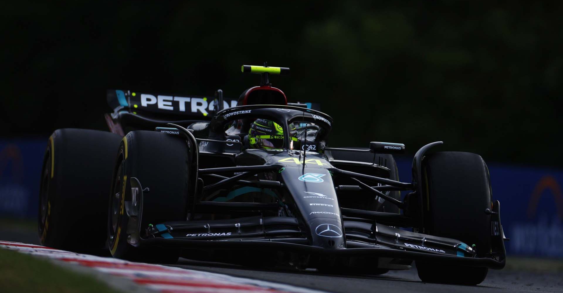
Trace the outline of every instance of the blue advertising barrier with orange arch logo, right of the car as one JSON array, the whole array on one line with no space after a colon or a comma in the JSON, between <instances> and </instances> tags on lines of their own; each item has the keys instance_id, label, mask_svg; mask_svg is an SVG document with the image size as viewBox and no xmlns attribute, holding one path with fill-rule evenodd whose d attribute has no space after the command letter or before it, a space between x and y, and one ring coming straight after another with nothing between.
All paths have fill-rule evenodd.
<instances>
[{"instance_id":1,"label":"blue advertising barrier with orange arch logo, right of the car","mask_svg":"<svg viewBox=\"0 0 563 293\"><path fill-rule=\"evenodd\" d=\"M508 253L563 258L563 172L492 164L489 172Z\"/></svg>"}]
</instances>

